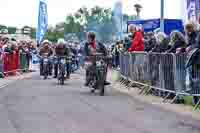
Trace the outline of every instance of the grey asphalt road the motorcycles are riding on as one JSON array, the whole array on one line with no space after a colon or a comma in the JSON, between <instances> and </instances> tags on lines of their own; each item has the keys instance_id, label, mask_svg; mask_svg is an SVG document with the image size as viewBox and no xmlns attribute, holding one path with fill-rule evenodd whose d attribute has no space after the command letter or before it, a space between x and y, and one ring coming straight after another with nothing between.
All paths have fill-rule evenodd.
<instances>
[{"instance_id":1,"label":"grey asphalt road the motorcycles are riding on","mask_svg":"<svg viewBox=\"0 0 200 133\"><path fill-rule=\"evenodd\" d=\"M90 94L83 75L64 86L33 76L0 90L0 133L200 133L200 121L119 93Z\"/></svg>"}]
</instances>

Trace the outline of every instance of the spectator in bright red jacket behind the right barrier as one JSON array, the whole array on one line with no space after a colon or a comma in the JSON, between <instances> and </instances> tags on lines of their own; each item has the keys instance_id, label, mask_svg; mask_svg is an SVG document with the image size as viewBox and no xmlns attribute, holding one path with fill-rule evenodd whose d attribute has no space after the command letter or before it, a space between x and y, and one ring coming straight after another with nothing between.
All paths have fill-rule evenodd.
<instances>
[{"instance_id":1,"label":"spectator in bright red jacket behind the right barrier","mask_svg":"<svg viewBox=\"0 0 200 133\"><path fill-rule=\"evenodd\" d=\"M144 36L142 31L138 30L135 25L130 25L129 31L133 34L133 40L128 52L144 51Z\"/></svg>"}]
</instances>

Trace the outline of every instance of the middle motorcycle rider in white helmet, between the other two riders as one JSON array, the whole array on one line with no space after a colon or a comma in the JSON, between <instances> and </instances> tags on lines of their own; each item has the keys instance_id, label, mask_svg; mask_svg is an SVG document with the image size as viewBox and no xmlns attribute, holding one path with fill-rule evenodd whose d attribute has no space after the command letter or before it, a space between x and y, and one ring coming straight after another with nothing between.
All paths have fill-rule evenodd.
<instances>
[{"instance_id":1,"label":"middle motorcycle rider in white helmet, between the other two riders","mask_svg":"<svg viewBox=\"0 0 200 133\"><path fill-rule=\"evenodd\" d=\"M57 58L57 62L59 62L59 57L65 56L66 58L70 56L70 50L69 47L66 46L66 42L64 39L59 39L57 46L55 48L55 56ZM70 78L70 67L69 63L67 65L67 79ZM57 78L58 76L58 63L54 65L54 78Z\"/></svg>"}]
</instances>

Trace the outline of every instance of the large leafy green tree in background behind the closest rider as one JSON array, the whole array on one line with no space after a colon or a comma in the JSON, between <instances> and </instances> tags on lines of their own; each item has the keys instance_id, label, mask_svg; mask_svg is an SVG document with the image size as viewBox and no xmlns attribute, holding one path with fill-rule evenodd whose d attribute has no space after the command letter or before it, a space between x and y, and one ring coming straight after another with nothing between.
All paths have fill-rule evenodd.
<instances>
[{"instance_id":1,"label":"large leafy green tree in background behind the closest rider","mask_svg":"<svg viewBox=\"0 0 200 133\"><path fill-rule=\"evenodd\" d=\"M124 14L124 24L128 20L135 19L135 16ZM79 39L84 39L85 32L95 31L98 40L109 41L116 34L117 25L113 23L113 12L111 9L104 9L95 6L91 9L81 7L74 14L69 14L66 17L64 24L64 33L67 35L76 35Z\"/></svg>"}]
</instances>

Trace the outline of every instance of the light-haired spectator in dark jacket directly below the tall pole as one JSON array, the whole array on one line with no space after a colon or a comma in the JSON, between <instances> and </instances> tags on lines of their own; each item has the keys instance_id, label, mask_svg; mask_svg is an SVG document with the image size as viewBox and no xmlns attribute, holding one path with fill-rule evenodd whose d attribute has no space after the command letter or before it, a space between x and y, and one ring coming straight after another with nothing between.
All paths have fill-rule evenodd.
<instances>
[{"instance_id":1,"label":"light-haired spectator in dark jacket directly below the tall pole","mask_svg":"<svg viewBox=\"0 0 200 133\"><path fill-rule=\"evenodd\" d=\"M151 52L163 53L170 49L169 41L170 39L163 32L159 32L155 35L156 45L151 50Z\"/></svg>"}]
</instances>

